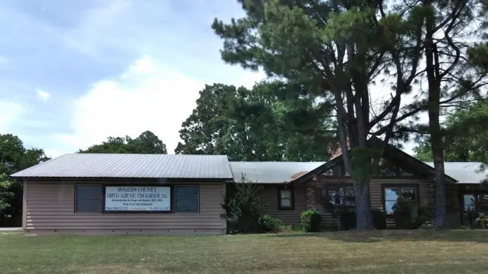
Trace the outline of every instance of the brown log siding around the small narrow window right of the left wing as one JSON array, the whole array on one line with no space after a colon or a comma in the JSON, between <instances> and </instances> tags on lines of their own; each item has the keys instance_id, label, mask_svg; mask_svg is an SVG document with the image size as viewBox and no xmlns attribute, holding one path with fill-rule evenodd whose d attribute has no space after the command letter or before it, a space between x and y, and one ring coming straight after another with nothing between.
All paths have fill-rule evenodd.
<instances>
[{"instance_id":1,"label":"brown log siding around the small narrow window right of the left wing","mask_svg":"<svg viewBox=\"0 0 488 274\"><path fill-rule=\"evenodd\" d=\"M278 187L279 185L262 185L261 193L265 203L263 212L280 219L284 224L299 224L300 213L306 210L306 186L294 187L294 210L278 210Z\"/></svg>"}]
</instances>

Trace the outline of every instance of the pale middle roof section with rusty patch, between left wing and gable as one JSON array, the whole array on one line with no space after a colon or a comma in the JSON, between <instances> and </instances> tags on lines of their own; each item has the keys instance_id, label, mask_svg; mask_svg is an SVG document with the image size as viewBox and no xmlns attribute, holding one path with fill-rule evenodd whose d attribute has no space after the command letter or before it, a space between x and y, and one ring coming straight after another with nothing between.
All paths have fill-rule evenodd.
<instances>
[{"instance_id":1,"label":"pale middle roof section with rusty patch, between left wing and gable","mask_svg":"<svg viewBox=\"0 0 488 274\"><path fill-rule=\"evenodd\" d=\"M290 182L303 173L325 164L323 161L231 161L235 182L240 182L243 175L251 182L283 183Z\"/></svg>"}]
</instances>

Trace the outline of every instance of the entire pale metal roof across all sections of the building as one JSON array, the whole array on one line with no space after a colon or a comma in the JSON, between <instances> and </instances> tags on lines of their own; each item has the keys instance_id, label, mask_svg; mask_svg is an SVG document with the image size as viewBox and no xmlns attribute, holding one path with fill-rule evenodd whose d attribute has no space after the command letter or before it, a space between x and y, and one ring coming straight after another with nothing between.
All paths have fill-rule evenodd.
<instances>
[{"instance_id":1,"label":"entire pale metal roof across all sections of the building","mask_svg":"<svg viewBox=\"0 0 488 274\"><path fill-rule=\"evenodd\" d=\"M14 178L182 178L232 179L283 183L325 162L231 161L225 155L172 154L65 154L18 173ZM433 166L432 162L426 162ZM482 163L446 162L445 173L459 184L477 184L488 178Z\"/></svg>"}]
</instances>

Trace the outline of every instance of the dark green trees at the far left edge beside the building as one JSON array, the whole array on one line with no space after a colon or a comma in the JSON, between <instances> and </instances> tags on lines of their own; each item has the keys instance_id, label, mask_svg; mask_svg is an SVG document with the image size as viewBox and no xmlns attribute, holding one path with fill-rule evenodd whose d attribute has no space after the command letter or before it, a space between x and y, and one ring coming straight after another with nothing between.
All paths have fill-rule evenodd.
<instances>
[{"instance_id":1,"label":"dark green trees at the far left edge beside the building","mask_svg":"<svg viewBox=\"0 0 488 274\"><path fill-rule=\"evenodd\" d=\"M0 134L0 226L4 215L22 216L22 183L8 175L48 159L42 149L26 149L18 136Z\"/></svg>"}]
</instances>

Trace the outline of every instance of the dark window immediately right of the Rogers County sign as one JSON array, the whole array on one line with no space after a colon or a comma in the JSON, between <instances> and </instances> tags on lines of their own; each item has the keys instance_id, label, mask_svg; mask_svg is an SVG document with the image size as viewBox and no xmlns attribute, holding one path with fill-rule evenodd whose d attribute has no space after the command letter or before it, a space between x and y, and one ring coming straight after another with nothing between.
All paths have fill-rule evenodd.
<instances>
[{"instance_id":1,"label":"dark window immediately right of the Rogers County sign","mask_svg":"<svg viewBox=\"0 0 488 274\"><path fill-rule=\"evenodd\" d=\"M175 186L175 212L199 212L198 185Z\"/></svg>"}]
</instances>

